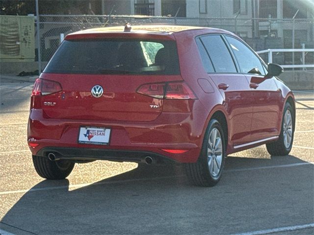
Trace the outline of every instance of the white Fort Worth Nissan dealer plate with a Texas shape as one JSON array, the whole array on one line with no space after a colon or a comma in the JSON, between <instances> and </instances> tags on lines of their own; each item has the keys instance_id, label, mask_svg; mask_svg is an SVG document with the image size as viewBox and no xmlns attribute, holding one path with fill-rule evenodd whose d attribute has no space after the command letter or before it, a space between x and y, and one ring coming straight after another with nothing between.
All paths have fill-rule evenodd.
<instances>
[{"instance_id":1,"label":"white Fort Worth Nissan dealer plate with a Texas shape","mask_svg":"<svg viewBox=\"0 0 314 235\"><path fill-rule=\"evenodd\" d=\"M110 128L79 127L78 143L107 145L110 140L110 132Z\"/></svg>"}]
</instances>

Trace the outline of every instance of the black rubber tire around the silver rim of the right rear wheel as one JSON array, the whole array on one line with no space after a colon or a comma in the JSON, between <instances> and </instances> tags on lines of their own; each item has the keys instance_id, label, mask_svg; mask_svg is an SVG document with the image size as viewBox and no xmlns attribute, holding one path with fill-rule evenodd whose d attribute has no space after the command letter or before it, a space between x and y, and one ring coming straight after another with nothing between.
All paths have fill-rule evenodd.
<instances>
[{"instance_id":1,"label":"black rubber tire around the silver rim of the right rear wheel","mask_svg":"<svg viewBox=\"0 0 314 235\"><path fill-rule=\"evenodd\" d=\"M212 175L209 170L209 157L208 157L209 134L214 128L218 130L222 143L221 166L219 169L219 173L217 173L216 175ZM191 183L193 183L196 186L212 187L219 182L225 164L226 145L224 140L225 140L224 133L220 123L216 119L211 119L209 121L209 125L204 136L202 150L198 158L198 161L196 163L185 164L186 174ZM212 161L214 161L213 157Z\"/></svg>"}]
</instances>

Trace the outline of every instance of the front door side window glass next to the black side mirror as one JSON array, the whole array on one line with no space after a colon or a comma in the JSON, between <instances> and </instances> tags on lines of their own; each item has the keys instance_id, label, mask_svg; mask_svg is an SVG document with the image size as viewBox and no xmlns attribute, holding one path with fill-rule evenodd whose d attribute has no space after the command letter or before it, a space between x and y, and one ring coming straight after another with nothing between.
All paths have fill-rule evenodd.
<instances>
[{"instance_id":1,"label":"front door side window glass next to the black side mirror","mask_svg":"<svg viewBox=\"0 0 314 235\"><path fill-rule=\"evenodd\" d=\"M265 74L260 59L239 40L226 36L226 39L235 55L240 70L243 73Z\"/></svg>"}]
</instances>

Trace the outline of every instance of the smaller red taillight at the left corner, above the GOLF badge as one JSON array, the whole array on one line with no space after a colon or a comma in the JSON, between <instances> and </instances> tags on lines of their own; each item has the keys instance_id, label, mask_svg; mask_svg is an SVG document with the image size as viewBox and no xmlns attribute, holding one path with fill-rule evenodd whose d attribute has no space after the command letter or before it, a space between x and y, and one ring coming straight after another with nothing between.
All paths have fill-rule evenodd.
<instances>
[{"instance_id":1,"label":"smaller red taillight at the left corner, above the GOLF badge","mask_svg":"<svg viewBox=\"0 0 314 235\"><path fill-rule=\"evenodd\" d=\"M32 96L47 95L47 94L53 94L53 93L57 93L61 91L62 91L62 87L60 83L51 81L51 80L37 78L31 95Z\"/></svg>"}]
</instances>

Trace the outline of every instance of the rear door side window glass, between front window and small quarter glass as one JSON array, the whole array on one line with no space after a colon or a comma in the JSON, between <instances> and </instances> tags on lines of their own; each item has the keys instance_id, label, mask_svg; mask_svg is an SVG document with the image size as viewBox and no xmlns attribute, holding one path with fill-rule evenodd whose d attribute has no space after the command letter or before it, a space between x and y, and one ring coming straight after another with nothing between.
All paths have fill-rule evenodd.
<instances>
[{"instance_id":1,"label":"rear door side window glass, between front window and small quarter glass","mask_svg":"<svg viewBox=\"0 0 314 235\"><path fill-rule=\"evenodd\" d=\"M235 63L220 35L208 35L201 38L216 72L236 72Z\"/></svg>"}]
</instances>

